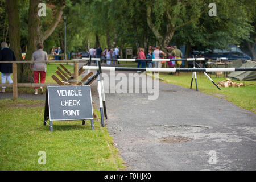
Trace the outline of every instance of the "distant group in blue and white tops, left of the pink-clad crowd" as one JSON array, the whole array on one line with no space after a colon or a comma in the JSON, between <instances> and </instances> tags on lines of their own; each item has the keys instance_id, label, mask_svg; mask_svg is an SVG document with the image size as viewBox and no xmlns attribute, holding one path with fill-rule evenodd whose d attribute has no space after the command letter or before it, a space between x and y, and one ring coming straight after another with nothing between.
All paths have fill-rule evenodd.
<instances>
[{"instance_id":1,"label":"distant group in blue and white tops, left of the pink-clad crowd","mask_svg":"<svg viewBox=\"0 0 256 182\"><path fill-rule=\"evenodd\" d=\"M101 46L99 46L97 49L96 48L91 48L89 50L89 56L90 57L96 57L96 58L105 58L109 59L105 61L106 64L110 65L111 64L111 59L118 59L119 58L119 48L104 48L102 51ZM114 61L114 63L117 63ZM114 64L113 63L113 64Z\"/></svg>"}]
</instances>

